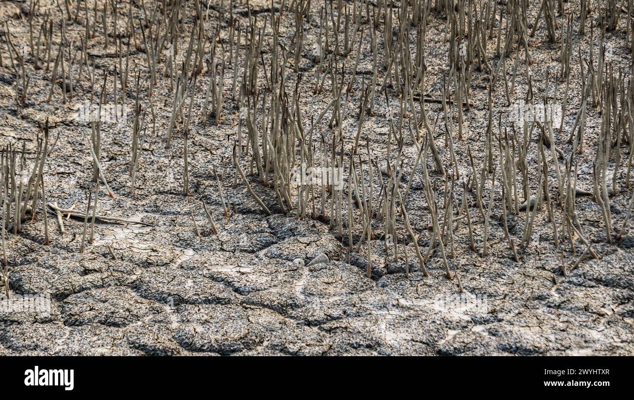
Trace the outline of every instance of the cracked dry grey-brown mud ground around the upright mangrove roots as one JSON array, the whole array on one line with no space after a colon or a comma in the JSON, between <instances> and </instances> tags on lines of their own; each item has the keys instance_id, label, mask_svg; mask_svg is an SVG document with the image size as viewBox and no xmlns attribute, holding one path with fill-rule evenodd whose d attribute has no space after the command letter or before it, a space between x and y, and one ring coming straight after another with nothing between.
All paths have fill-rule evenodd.
<instances>
[{"instance_id":1,"label":"cracked dry grey-brown mud ground around the upright mangrove roots","mask_svg":"<svg viewBox=\"0 0 634 400\"><path fill-rule=\"evenodd\" d=\"M193 30L195 10L190 3L183 10L179 46L185 49L178 52L179 60L185 57ZM228 2L223 3L224 9L219 2L212 3L205 30L210 35L220 20L220 37L226 42L230 16ZM280 11L280 5L275 3L274 11ZM593 8L599 9L596 3L592 2ZM40 4L39 12L34 16L38 22L34 26L37 27L47 11L55 13L58 10L48 1ZM270 15L271 7L267 2L250 1L250 4L251 14L258 15L258 27L264 33L262 58L269 63L273 35L270 23L265 25L264 20ZM333 9L337 13L337 3L334 4ZM353 3L344 4L352 6ZM369 4L370 8L375 6L372 2ZM567 12L578 22L578 4L564 4ZM77 120L75 106L90 101L90 84L86 76L79 75L79 63L75 61L70 67L76 74L73 77L74 98L63 104L61 86L58 85L54 88L53 101L47 103L51 72L34 69L31 56L26 56L30 88L27 99L17 106L16 91L20 89L16 87L15 70L10 66L6 38L10 35L14 45L29 43L29 23L23 6L24 3L0 3L0 16L3 22L9 21L6 27L10 32L8 34L5 27L3 47L0 49L3 53L3 66L0 68L0 140L3 146L11 143L19 149L24 141L27 166L29 163L32 165L37 147L36 135L39 126L44 125L48 117L51 137L56 139L44 167L47 201L64 209L75 206L83 210L86 193L93 187L93 160L86 144L91 127L89 123ZM295 22L293 13L285 8L287 6L281 6L285 12L281 13L280 41L290 49ZM125 10L120 11L120 16L126 16L129 3L124 2L119 7ZM302 94L302 113L307 125L309 117L316 118L331 96L330 78L325 80L325 92L313 92L314 76L319 66L313 62L312 49L320 29L320 7L321 4L311 4L310 21L302 22L306 51L299 60L299 72L304 78L297 91ZM398 7L399 4L395 3L394 9ZM224 11L221 18L217 16L219 9ZM139 20L143 18L139 4L135 3L131 10ZM233 15L246 23L249 18L246 10L245 4L240 7L236 4ZM539 4L532 4L529 20L534 21L538 11ZM588 16L588 29L591 21L598 23L597 12ZM368 32L369 25L363 18L361 25ZM626 16L622 18L625 20ZM60 17L56 16L53 20L53 42L58 43ZM68 37L77 38L75 44L84 34L81 20L72 22L71 19L65 25ZM126 18L120 18L118 23L120 32L123 32ZM432 12L428 24L427 89L430 96L436 97L443 87L443 75L449 72L446 68L449 45L444 41L446 19L442 13ZM380 48L384 41L383 29L381 25ZM495 35L494 32L491 60L497 62L498 58L493 57ZM533 85L540 90L545 89L543 82L547 68L551 71L559 68L559 44L548 43L546 35L545 24L540 20L536 34L530 38L529 48L533 58ZM587 54L588 35L573 36L574 54L578 50ZM129 37L122 39L124 42L130 40ZM413 37L411 41L414 41ZM597 34L592 42L593 48L596 41ZM612 49L609 61L624 68L624 75L629 77L631 53L625 28L609 32L605 41ZM0 309L0 354L634 354L634 236L631 222L621 241L608 244L600 209L591 196L579 197L577 208L584 233L592 240L598 259L584 259L578 268L565 276L560 273L562 254L564 263L570 265L585 247L578 242L576 254L569 246L566 247L567 244L556 247L547 213L542 209L536 216L534 240L526 248L518 249L520 259L515 262L504 237L501 201L491 199L494 205L488 232L489 249L485 257L470 250L465 225L455 232L455 258L450 262L460 276L463 294L460 294L455 278L448 280L445 277L438 251L427 261L429 277L424 277L413 247L406 246L410 268L408 278L405 274L406 260L401 257L395 261L392 251L385 251L384 241L378 237L370 242L371 277L366 277L367 244L363 244L360 251L347 254L346 242L342 244L336 237L336 229L329 229L328 222L321 222L319 218L298 220L294 218L294 213L283 215L276 206L276 195L272 189L259 184L255 177L248 174L251 187L273 212L273 215L264 215L239 178L238 185L233 187L235 168L232 152L238 130L239 104L231 99L231 76L233 68L244 65L244 46L241 46L238 63L231 62L226 66L224 113L219 126L209 123L205 127L200 122L209 85L206 69L195 88L188 139L190 196L183 196L184 122L179 122L174 129L169 148L165 148L163 141L171 118L174 92L170 90L169 78L163 77L167 67L162 62L157 66L159 78L153 96L148 96L146 83L139 93L148 120L150 108L153 108L155 128L149 124L133 194L129 193L129 164L133 141L132 109L136 97L134 85L129 85L126 90L130 104L127 118L101 125L101 163L115 197L108 197L102 187L97 213L150 225L98 221L94 228L94 242L83 253L79 252L82 219L64 218L65 232L61 235L53 209L48 210L49 246L43 244L44 217L41 210L36 212L32 221L29 216L20 233L13 234L8 230L5 234L6 253L13 296L43 294L49 296L50 308L42 312L41 309L3 306ZM74 53L75 47L72 49ZM109 47L104 46L101 35L96 35L87 43L86 53L91 67L94 61L98 77L112 73L114 66L118 66L119 59L114 49L112 43ZM524 49L519 52L520 71L524 70L523 52ZM345 60L348 69L354 63L356 49L352 54ZM512 78L514 63L515 57L508 57L509 78ZM566 142L566 127L570 128L574 123L581 81L584 79L578 63L572 64L564 132L557 132L556 139L559 148L566 154L571 151L571 145ZM131 76L136 76L137 72L142 77L148 74L143 46L141 50L131 52L129 65L134 72ZM242 70L239 71L238 77L242 74ZM368 81L372 78L372 71L372 49L366 37L357 73ZM265 72L262 68L259 72L259 80L264 85ZM85 74L85 70L82 73ZM346 82L351 73L346 70ZM380 72L380 76L384 76L384 71ZM297 77L289 60L285 77L287 88L295 88ZM503 89L500 88L502 81L498 82L498 88L493 93L493 108L496 110L506 105ZM108 82L106 93L112 101L112 80ZM488 77L475 72L471 84L472 107L465 111L465 139L454 139L456 156L462 160L460 168L467 176L471 173L467 146L470 146L476 166L482 163L486 146ZM562 101L565 83L559 82L559 85L562 87L556 98ZM518 73L514 98L522 99L527 86L524 75ZM98 84L95 96L99 96L100 89ZM118 90L121 90L120 87ZM361 80L358 79L351 91L351 103L354 104L351 109L358 108L361 91ZM398 114L398 93L391 88L388 94L392 112ZM430 120L435 120L436 114L441 112L440 104L427 103L426 107ZM332 135L328 128L331 115L328 111L316 128L320 135ZM373 114L366 118L361 136L364 150L359 151L363 168L368 168L370 159L385 162L390 113L384 96L376 97ZM593 149L597 147L601 116L595 109L589 108L587 118L586 149L590 150L579 154L576 160L579 163L579 185L592 190ZM349 132L344 132L344 147L349 149L354 142L358 118L350 112L345 121ZM411 139L407 140L411 150L414 144ZM443 146L442 133L436 141L445 165L449 165L450 152ZM368 153L365 151L366 142ZM392 142L394 153L396 147ZM623 153L623 159L627 159L627 146L618 151ZM535 154L529 156L534 159L534 147L533 152ZM405 151L404 154L401 187L408 184L416 159L415 152L408 154ZM247 173L249 158L245 157L242 164ZM443 176L433 172L431 159L428 167L437 188L437 198L443 199ZM214 168L223 177L223 201L228 199L231 208L228 218L223 215ZM30 167L26 169L30 171ZM381 177L373 178L380 187L378 180ZM624 178L623 172L618 181L624 182ZM383 179L387 182L385 177ZM555 182L554 179L552 175L550 182ZM623 189L611 199L615 227L621 226L631 197L631 191L624 189L624 184L621 183L620 187ZM344 198L347 197L345 190ZM489 189L486 189L486 196L488 193ZM481 249L484 224L475 208L475 198L472 194L469 196L476 247ZM462 198L462 189L456 189L456 197ZM214 216L217 234L201 201L207 204ZM488 198L486 204L489 204ZM411 184L406 208L410 223L417 232L418 244L426 248L431 235L431 230L427 228L430 215L418 173ZM525 215L508 215L510 234L517 241L524 230ZM360 215L355 218L356 247L361 239L363 221ZM399 241L410 243L411 239L402 227L403 221L399 220L398 224ZM380 225L373 229L381 231ZM347 235L347 231L344 232ZM315 262L316 258L323 259L323 262Z\"/></svg>"}]
</instances>

